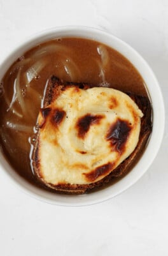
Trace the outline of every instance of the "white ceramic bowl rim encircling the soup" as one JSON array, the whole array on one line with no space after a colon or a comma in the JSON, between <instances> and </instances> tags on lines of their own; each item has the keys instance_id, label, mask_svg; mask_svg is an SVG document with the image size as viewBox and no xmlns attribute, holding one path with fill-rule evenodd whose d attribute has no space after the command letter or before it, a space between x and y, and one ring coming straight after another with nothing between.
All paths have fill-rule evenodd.
<instances>
[{"instance_id":1,"label":"white ceramic bowl rim encircling the soup","mask_svg":"<svg viewBox=\"0 0 168 256\"><path fill-rule=\"evenodd\" d=\"M143 77L148 89L148 93L150 94L151 105L153 108L153 130L144 154L141 156L141 159L139 162L137 162L136 166L129 172L129 174L120 179L120 181L108 186L107 188L86 195L60 195L58 193L50 193L45 190L41 190L40 188L37 188L25 181L24 178L20 177L17 172L12 169L2 153L0 153L0 171L2 174L2 179L3 175L8 177L7 182L16 184L18 188L36 199L61 206L85 206L115 197L115 195L118 195L129 188L132 184L136 183L136 181L143 176L146 170L148 170L158 153L158 149L160 148L164 134L164 101L157 79L150 66L148 66L146 61L144 61L143 57L141 57L136 50L132 49L132 47L127 45L127 43L116 38L116 36L91 27L55 27L53 29L42 31L41 33L30 36L27 38L27 40L21 43L17 49L13 50L10 56L6 57L3 63L0 64L0 81L10 65L18 57L22 56L24 52L34 47L34 45L53 38L67 36L88 38L109 45L109 47L118 50L118 52L120 52L123 56L127 57L127 59L129 59L129 61L137 68Z\"/></svg>"}]
</instances>

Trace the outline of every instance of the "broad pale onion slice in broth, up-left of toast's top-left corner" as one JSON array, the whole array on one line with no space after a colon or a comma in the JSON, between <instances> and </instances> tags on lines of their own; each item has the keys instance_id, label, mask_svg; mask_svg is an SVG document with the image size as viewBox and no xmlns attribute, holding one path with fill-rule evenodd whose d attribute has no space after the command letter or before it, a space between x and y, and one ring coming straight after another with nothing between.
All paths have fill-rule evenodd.
<instances>
[{"instance_id":1,"label":"broad pale onion slice in broth, up-left of toast's top-left corner","mask_svg":"<svg viewBox=\"0 0 168 256\"><path fill-rule=\"evenodd\" d=\"M37 61L34 63L31 68L29 68L25 74L26 74L26 84L29 84L34 77L38 75L41 70L46 66L46 61Z\"/></svg>"}]
</instances>

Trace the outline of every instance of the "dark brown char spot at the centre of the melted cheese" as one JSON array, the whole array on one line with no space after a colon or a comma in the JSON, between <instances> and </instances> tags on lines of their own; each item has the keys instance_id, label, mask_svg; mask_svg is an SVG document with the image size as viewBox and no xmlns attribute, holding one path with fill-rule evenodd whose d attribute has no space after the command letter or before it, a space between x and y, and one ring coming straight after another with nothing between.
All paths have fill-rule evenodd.
<instances>
[{"instance_id":1,"label":"dark brown char spot at the centre of the melted cheese","mask_svg":"<svg viewBox=\"0 0 168 256\"><path fill-rule=\"evenodd\" d=\"M100 124L101 119L104 116L92 114L86 114L85 116L80 117L76 123L76 130L78 131L78 137L83 139L88 132L91 125Z\"/></svg>"}]
</instances>

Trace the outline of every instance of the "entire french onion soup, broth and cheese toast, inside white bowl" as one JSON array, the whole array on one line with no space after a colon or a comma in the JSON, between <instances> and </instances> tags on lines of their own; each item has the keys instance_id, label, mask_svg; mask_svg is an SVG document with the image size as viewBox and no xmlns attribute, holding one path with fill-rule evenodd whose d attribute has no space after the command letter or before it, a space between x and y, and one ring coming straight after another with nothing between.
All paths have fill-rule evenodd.
<instances>
[{"instance_id":1,"label":"entire french onion soup, broth and cheese toast, inside white bowl","mask_svg":"<svg viewBox=\"0 0 168 256\"><path fill-rule=\"evenodd\" d=\"M107 45L56 38L20 56L1 81L1 149L27 181L87 193L127 174L151 133L136 68Z\"/></svg>"}]
</instances>

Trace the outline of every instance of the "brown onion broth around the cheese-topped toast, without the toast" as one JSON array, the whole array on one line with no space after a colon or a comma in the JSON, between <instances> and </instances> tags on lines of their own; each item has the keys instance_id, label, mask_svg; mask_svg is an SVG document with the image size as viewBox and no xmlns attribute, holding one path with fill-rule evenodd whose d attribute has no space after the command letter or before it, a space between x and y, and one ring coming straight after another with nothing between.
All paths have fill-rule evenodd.
<instances>
[{"instance_id":1,"label":"brown onion broth around the cheese-topped toast, without the toast","mask_svg":"<svg viewBox=\"0 0 168 256\"><path fill-rule=\"evenodd\" d=\"M103 61L100 49L105 56ZM34 63L37 66L32 66ZM42 64L44 67L40 70ZM40 71L31 80L33 68ZM27 70L28 79L31 80L29 84ZM17 82L19 74L20 84ZM20 56L1 82L3 94L0 97L0 143L13 169L39 187L43 185L38 183L33 174L30 152L37 132L36 120L41 100L51 75L64 81L87 82L93 86L105 84L123 92L148 96L144 81L136 68L122 54L97 41L82 38L55 39L41 43ZM101 84L102 82L105 83ZM22 109L18 98L15 99L17 88L20 91L18 98ZM13 112L17 112L17 115Z\"/></svg>"}]
</instances>

